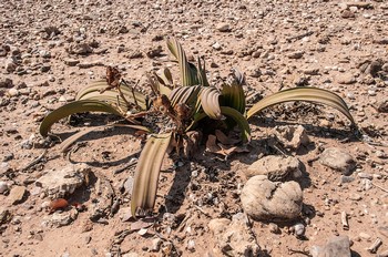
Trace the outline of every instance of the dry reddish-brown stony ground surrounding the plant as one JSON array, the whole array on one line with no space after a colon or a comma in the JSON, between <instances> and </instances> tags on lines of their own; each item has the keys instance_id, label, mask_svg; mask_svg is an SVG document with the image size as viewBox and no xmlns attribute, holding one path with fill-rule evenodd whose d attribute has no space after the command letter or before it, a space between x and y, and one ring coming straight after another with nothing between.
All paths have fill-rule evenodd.
<instances>
[{"instance_id":1,"label":"dry reddish-brown stony ground surrounding the plant","mask_svg":"<svg viewBox=\"0 0 388 257\"><path fill-rule=\"evenodd\" d=\"M351 249L341 256L388 256L387 1L3 0L0 13L0 256L317 256L316 246L338 235L348 236ZM91 133L63 157L38 127L49 111L103 79L106 65L140 80L147 92L146 71L175 65L167 35L190 56L205 56L212 82L231 68L244 71L251 103L296 85L331 90L363 133L330 107L273 107L252 119L249 153L224 160L202 146L204 153L191 161L166 158L156 220L131 232L135 167L127 164L142 145L133 131ZM57 141L113 120L81 117L55 124ZM274 130L294 124L305 127L309 143L296 150L277 144ZM350 154L350 173L323 165L321 152L329 147ZM246 225L239 199L244 171L263 156L283 154L304 166L292 178L302 186L300 214L280 222L249 218ZM76 166L88 169L86 182L81 172L81 184L64 196L72 205L49 212L52 195L42 191L42 176L73 171L73 164L86 165ZM228 244L214 233L217 220L241 241Z\"/></svg>"}]
</instances>

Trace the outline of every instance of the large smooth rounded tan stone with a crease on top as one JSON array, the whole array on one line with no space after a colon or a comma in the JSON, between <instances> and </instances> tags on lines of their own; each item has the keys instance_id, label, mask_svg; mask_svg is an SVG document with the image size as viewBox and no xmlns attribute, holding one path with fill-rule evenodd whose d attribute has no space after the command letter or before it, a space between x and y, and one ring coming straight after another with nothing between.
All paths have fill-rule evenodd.
<instances>
[{"instance_id":1,"label":"large smooth rounded tan stone with a crease on top","mask_svg":"<svg viewBox=\"0 0 388 257\"><path fill-rule=\"evenodd\" d=\"M302 212L303 193L296 182L272 182L257 175L245 184L241 201L244 212L254 219L295 219Z\"/></svg>"}]
</instances>

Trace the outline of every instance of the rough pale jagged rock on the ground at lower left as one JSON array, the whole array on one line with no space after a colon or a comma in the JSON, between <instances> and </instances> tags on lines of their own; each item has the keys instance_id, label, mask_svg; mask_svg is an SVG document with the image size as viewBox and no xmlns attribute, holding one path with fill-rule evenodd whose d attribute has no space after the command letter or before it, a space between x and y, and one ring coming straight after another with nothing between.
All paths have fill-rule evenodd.
<instances>
[{"instance_id":1,"label":"rough pale jagged rock on the ground at lower left","mask_svg":"<svg viewBox=\"0 0 388 257\"><path fill-rule=\"evenodd\" d=\"M60 198L74 193L85 182L89 172L91 168L85 164L68 165L60 171L48 171L35 185L52 198Z\"/></svg>"}]
</instances>

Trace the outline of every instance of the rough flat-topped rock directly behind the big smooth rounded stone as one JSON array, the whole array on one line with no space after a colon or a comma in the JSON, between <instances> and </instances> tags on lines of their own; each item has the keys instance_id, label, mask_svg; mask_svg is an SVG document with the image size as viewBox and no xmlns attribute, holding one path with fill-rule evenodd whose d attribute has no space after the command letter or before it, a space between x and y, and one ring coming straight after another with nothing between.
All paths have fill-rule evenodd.
<instances>
[{"instance_id":1,"label":"rough flat-topped rock directly behind the big smooth rounded stone","mask_svg":"<svg viewBox=\"0 0 388 257\"><path fill-rule=\"evenodd\" d=\"M284 181L302 176L300 162L293 156L265 156L244 171L247 178L266 175L269 181Z\"/></svg>"}]
</instances>

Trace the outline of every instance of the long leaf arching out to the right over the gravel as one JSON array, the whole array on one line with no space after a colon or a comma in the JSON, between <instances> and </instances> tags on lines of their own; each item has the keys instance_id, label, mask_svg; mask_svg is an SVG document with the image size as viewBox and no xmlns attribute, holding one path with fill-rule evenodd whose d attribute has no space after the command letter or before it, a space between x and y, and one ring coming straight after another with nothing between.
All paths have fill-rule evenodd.
<instances>
[{"instance_id":1,"label":"long leaf arching out to the right over the gravel","mask_svg":"<svg viewBox=\"0 0 388 257\"><path fill-rule=\"evenodd\" d=\"M247 112L247 119L253 116L254 114L263 111L266 107L273 106L275 104L292 102L292 101L306 101L319 104L326 104L334 109L337 109L341 112L347 119L350 120L353 124L355 124L355 120L353 119L348 106L345 101L337 94L317 88L294 88L284 91L279 91L272 95L268 95L256 104L252 106Z\"/></svg>"}]
</instances>

